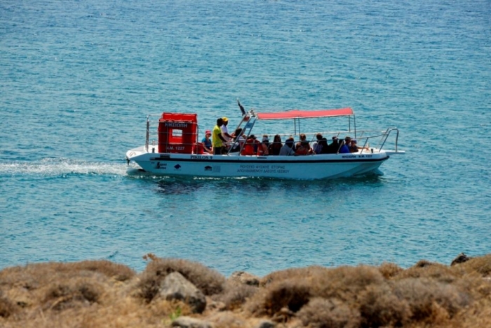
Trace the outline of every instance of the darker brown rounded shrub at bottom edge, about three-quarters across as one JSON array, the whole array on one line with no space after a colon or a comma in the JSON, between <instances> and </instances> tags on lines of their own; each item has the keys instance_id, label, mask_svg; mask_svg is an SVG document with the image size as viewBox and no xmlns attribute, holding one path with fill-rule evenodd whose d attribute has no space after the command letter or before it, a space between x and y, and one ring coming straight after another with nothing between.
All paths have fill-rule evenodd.
<instances>
[{"instance_id":1,"label":"darker brown rounded shrub at bottom edge, about three-quarters across","mask_svg":"<svg viewBox=\"0 0 491 328\"><path fill-rule=\"evenodd\" d=\"M363 327L399 327L411 317L408 301L394 295L386 285L372 285L358 299Z\"/></svg>"}]
</instances>

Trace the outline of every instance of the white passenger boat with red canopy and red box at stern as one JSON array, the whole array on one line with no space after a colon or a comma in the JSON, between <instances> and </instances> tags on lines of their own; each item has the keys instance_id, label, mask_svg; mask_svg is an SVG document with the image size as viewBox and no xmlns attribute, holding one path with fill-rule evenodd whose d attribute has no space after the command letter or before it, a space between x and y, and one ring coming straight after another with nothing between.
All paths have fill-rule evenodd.
<instances>
[{"instance_id":1,"label":"white passenger boat with red canopy and red box at stern","mask_svg":"<svg viewBox=\"0 0 491 328\"><path fill-rule=\"evenodd\" d=\"M203 131L198 124L196 113L163 112L147 116L146 142L126 152L126 160L130 170L152 176L188 176L210 178L280 178L297 180L331 179L359 176L368 173L382 174L379 166L391 155L404 154L398 150L399 131L389 127L383 131L358 131L354 110L351 107L330 110L284 110L262 112L255 109L245 110L238 101L241 118L237 129L242 129L243 140L238 152L230 147L220 155L208 154L203 151L201 139ZM346 118L347 129L341 131L302 131L300 122L318 119ZM283 138L293 137L297 142L300 135L312 145L317 134L331 140L351 136L358 141L358 150L341 152L341 147L327 154L295 155L263 155L253 153L245 155L246 144L252 140L257 126L271 122L292 122L293 128L288 133L278 133ZM307 124L315 126L316 124ZM274 124L276 128L278 125ZM271 133L269 140L277 133ZM262 136L263 133L257 133ZM327 138L328 137L328 138ZM390 141L389 141L390 140ZM233 143L233 140L232 140ZM344 142L340 142L341 146ZM328 145L330 143L328 142ZM237 145L237 144L235 144ZM386 145L393 149L386 150ZM351 150L353 151L353 150Z\"/></svg>"}]
</instances>

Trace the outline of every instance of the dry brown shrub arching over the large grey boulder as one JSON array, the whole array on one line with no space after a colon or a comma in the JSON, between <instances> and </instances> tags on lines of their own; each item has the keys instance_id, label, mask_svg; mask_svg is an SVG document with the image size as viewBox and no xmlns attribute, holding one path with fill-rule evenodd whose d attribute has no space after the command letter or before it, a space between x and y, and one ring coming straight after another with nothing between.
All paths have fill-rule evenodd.
<instances>
[{"instance_id":1,"label":"dry brown shrub arching over the large grey boulder","mask_svg":"<svg viewBox=\"0 0 491 328\"><path fill-rule=\"evenodd\" d=\"M156 258L154 256L151 258L152 261L142 273L138 285L139 296L148 302L159 293L163 279L173 272L180 273L205 295L210 296L223 291L225 277L205 265L178 258Z\"/></svg>"}]
</instances>

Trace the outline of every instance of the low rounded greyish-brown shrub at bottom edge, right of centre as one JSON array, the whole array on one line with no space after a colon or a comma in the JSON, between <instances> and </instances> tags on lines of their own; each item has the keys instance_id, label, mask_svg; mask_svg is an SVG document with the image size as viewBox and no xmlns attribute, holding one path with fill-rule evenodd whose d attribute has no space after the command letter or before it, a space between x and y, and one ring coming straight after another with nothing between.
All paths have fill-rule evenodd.
<instances>
[{"instance_id":1,"label":"low rounded greyish-brown shrub at bottom edge, right of centre","mask_svg":"<svg viewBox=\"0 0 491 328\"><path fill-rule=\"evenodd\" d=\"M338 299L314 297L298 311L302 324L311 328L356 328L360 326L360 313Z\"/></svg>"}]
</instances>

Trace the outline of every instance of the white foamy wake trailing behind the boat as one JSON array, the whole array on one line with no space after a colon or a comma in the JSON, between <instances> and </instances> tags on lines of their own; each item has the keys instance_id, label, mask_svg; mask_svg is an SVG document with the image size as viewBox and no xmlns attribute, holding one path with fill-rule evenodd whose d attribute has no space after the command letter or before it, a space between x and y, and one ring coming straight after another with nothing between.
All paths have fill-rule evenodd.
<instances>
[{"instance_id":1,"label":"white foamy wake trailing behind the boat","mask_svg":"<svg viewBox=\"0 0 491 328\"><path fill-rule=\"evenodd\" d=\"M2 161L2 176L126 175L123 162L87 162L67 158L44 158L34 162Z\"/></svg>"}]
</instances>

